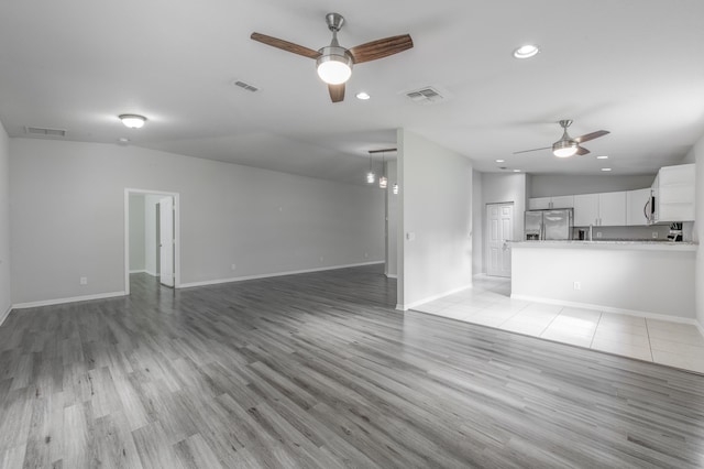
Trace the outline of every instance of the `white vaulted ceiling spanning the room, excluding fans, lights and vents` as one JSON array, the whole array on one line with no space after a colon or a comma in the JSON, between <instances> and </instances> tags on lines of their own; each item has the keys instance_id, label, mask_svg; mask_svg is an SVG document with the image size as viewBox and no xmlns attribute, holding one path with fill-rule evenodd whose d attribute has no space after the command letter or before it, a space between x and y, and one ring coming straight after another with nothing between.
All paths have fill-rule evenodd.
<instances>
[{"instance_id":1,"label":"white vaulted ceiling spanning the room, excluding fans, lights and vents","mask_svg":"<svg viewBox=\"0 0 704 469\"><path fill-rule=\"evenodd\" d=\"M254 31L310 48L409 33L410 51L358 65L331 103L315 62L250 40ZM130 144L363 184L367 151L406 128L480 171L654 173L704 134L702 0L28 0L0 14L0 121L65 129L66 140ZM515 47L542 52L518 61ZM260 88L244 91L240 79ZM447 98L418 105L405 92ZM365 90L369 101L354 95ZM148 118L124 128L120 113ZM585 156L546 150L573 119Z\"/></svg>"}]
</instances>

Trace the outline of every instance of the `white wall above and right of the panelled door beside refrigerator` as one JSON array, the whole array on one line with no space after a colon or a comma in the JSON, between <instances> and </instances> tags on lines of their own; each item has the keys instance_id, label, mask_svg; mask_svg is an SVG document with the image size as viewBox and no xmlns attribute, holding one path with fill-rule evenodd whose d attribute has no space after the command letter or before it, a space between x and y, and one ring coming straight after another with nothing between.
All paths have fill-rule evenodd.
<instances>
[{"instance_id":1,"label":"white wall above and right of the panelled door beside refrigerator","mask_svg":"<svg viewBox=\"0 0 704 469\"><path fill-rule=\"evenodd\" d=\"M482 217L485 217L486 204L514 203L514 240L524 238L524 212L526 211L526 174L482 175ZM484 220L484 218L482 218ZM483 223L483 230L485 230ZM482 249L482 252L485 250Z\"/></svg>"}]
</instances>

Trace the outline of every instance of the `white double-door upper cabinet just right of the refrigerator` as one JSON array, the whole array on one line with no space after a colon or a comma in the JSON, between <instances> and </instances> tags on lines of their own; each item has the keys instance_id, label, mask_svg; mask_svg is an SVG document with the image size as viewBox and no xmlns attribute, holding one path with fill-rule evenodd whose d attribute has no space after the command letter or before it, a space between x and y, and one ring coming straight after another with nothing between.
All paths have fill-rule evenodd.
<instances>
[{"instance_id":1,"label":"white double-door upper cabinet just right of the refrigerator","mask_svg":"<svg viewBox=\"0 0 704 469\"><path fill-rule=\"evenodd\" d=\"M574 196L574 226L619 227L626 225L626 193Z\"/></svg>"}]
</instances>

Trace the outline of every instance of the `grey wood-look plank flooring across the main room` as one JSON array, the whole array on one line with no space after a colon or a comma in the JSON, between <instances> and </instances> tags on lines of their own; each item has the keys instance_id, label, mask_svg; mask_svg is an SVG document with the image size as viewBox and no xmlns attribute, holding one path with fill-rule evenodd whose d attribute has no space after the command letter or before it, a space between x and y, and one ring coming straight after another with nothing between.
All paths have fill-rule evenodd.
<instances>
[{"instance_id":1,"label":"grey wood-look plank flooring across the main room","mask_svg":"<svg viewBox=\"0 0 704 469\"><path fill-rule=\"evenodd\" d=\"M393 309L378 266L14 310L0 468L695 468L704 377Z\"/></svg>"}]
</instances>

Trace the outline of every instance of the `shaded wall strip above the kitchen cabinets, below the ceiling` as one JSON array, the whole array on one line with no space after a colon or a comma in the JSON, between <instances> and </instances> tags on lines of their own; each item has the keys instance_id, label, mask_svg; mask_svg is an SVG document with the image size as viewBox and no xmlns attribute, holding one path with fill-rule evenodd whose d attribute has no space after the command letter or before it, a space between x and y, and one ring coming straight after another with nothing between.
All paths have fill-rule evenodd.
<instances>
[{"instance_id":1,"label":"shaded wall strip above the kitchen cabinets, below the ceiling","mask_svg":"<svg viewBox=\"0 0 704 469\"><path fill-rule=\"evenodd\" d=\"M654 174L646 175L566 175L534 174L528 197L552 197L572 194L613 193L650 187Z\"/></svg>"}]
</instances>

